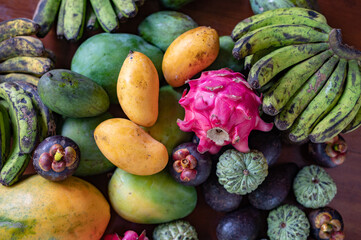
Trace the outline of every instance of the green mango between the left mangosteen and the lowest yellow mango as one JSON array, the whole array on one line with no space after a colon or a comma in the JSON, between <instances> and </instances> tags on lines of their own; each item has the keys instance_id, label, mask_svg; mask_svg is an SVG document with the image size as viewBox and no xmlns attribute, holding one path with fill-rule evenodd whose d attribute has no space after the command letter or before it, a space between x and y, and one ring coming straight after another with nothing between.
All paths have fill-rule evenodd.
<instances>
[{"instance_id":1,"label":"green mango between the left mangosteen and the lowest yellow mango","mask_svg":"<svg viewBox=\"0 0 361 240\"><path fill-rule=\"evenodd\" d=\"M61 135L76 142L80 148L79 166L74 175L90 176L111 171L115 166L101 153L94 140L94 129L113 116L106 112L97 117L67 118Z\"/></svg>"}]
</instances>

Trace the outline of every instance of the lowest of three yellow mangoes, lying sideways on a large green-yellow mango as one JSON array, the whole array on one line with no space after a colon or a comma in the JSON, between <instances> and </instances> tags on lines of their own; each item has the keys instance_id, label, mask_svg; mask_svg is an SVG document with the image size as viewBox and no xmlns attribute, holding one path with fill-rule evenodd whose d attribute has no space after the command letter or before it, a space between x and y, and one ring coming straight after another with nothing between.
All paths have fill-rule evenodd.
<instances>
[{"instance_id":1,"label":"lowest of three yellow mangoes, lying sideways on a large green-yellow mango","mask_svg":"<svg viewBox=\"0 0 361 240\"><path fill-rule=\"evenodd\" d=\"M100 123L94 138L103 155L128 173L152 175L167 165L167 148L128 119L112 118Z\"/></svg>"}]
</instances>

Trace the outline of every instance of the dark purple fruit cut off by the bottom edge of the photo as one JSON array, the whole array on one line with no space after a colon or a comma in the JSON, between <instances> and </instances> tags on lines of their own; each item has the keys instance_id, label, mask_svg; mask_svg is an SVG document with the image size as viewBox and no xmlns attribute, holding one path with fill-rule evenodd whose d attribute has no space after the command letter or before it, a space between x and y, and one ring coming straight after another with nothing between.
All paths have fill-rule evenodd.
<instances>
[{"instance_id":1,"label":"dark purple fruit cut off by the bottom edge of the photo","mask_svg":"<svg viewBox=\"0 0 361 240\"><path fill-rule=\"evenodd\" d=\"M217 225L218 240L254 240L259 235L261 212L246 207L224 215Z\"/></svg>"}]
</instances>

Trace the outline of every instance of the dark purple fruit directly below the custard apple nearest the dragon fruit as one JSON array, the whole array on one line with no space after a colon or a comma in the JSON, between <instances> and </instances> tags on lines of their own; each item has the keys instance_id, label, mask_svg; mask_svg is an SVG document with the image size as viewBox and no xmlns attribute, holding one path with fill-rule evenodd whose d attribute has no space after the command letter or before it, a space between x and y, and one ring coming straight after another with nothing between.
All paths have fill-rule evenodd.
<instances>
[{"instance_id":1,"label":"dark purple fruit directly below the custard apple nearest the dragon fruit","mask_svg":"<svg viewBox=\"0 0 361 240\"><path fill-rule=\"evenodd\" d=\"M231 212L236 210L242 202L242 195L229 193L216 176L209 177L202 184L202 192L206 203L215 211Z\"/></svg>"}]
</instances>

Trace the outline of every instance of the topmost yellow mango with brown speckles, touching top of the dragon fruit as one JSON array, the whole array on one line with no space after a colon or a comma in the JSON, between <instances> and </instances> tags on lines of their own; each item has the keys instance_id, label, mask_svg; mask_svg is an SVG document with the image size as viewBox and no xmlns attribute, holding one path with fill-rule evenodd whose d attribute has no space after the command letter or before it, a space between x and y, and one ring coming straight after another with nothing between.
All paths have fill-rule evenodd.
<instances>
[{"instance_id":1,"label":"topmost yellow mango with brown speckles, touching top of the dragon fruit","mask_svg":"<svg viewBox=\"0 0 361 240\"><path fill-rule=\"evenodd\" d=\"M217 58L219 37L216 30L200 26L181 34L167 48L162 62L169 85L180 87Z\"/></svg>"}]
</instances>

